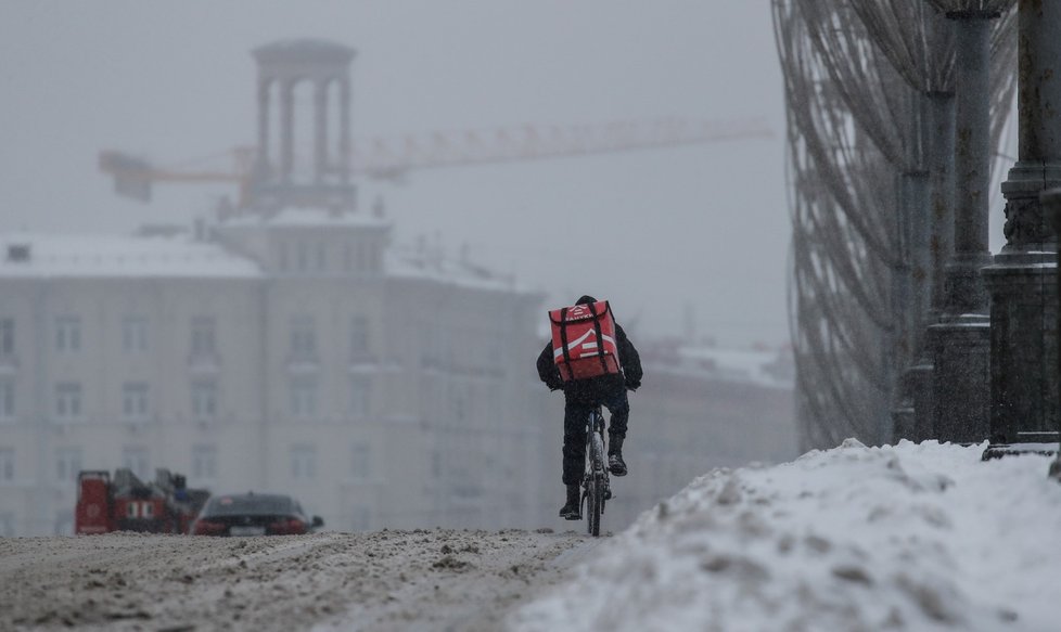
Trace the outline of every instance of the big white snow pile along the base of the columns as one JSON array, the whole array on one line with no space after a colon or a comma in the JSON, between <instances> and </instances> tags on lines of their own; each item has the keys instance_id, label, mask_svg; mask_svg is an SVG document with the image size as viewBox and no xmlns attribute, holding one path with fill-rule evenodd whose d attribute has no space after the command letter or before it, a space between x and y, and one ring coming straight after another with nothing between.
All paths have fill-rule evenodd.
<instances>
[{"instance_id":1,"label":"big white snow pile along the base of the columns","mask_svg":"<svg viewBox=\"0 0 1061 632\"><path fill-rule=\"evenodd\" d=\"M514 630L1059 630L1049 459L848 439L717 469L604 543ZM634 473L636 475L636 473ZM606 514L605 514L606 525Z\"/></svg>"}]
</instances>

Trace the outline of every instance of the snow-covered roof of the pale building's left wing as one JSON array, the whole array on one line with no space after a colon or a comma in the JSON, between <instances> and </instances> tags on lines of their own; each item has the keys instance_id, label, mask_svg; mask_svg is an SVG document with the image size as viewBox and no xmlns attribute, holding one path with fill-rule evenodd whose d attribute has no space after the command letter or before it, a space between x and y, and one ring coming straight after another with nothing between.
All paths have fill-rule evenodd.
<instances>
[{"instance_id":1,"label":"snow-covered roof of the pale building's left wing","mask_svg":"<svg viewBox=\"0 0 1061 632\"><path fill-rule=\"evenodd\" d=\"M0 234L0 278L256 278L258 266L188 235Z\"/></svg>"}]
</instances>

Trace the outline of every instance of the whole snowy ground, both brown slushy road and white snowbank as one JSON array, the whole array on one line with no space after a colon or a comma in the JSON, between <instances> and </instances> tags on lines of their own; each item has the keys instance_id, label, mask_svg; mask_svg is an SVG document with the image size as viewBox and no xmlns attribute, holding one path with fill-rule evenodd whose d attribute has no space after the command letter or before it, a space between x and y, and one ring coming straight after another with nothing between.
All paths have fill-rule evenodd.
<instances>
[{"instance_id":1,"label":"whole snowy ground, both brown slushy road and white snowbank","mask_svg":"<svg viewBox=\"0 0 1061 632\"><path fill-rule=\"evenodd\" d=\"M599 540L0 539L0 630L1061 630L1061 485L982 451L718 469Z\"/></svg>"}]
</instances>

